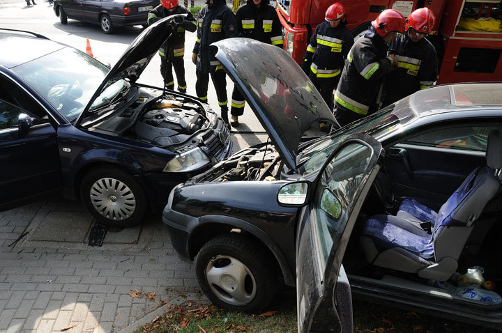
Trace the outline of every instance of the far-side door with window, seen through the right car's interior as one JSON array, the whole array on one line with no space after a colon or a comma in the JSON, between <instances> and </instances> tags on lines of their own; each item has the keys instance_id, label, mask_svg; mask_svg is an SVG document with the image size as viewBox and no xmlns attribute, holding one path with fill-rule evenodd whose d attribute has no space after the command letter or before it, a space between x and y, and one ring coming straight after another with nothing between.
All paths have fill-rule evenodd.
<instances>
[{"instance_id":1,"label":"far-side door with window, seen through the right car's interior","mask_svg":"<svg viewBox=\"0 0 502 333\"><path fill-rule=\"evenodd\" d=\"M441 123L386 148L395 196L425 198L440 206L473 169L486 165L493 129L502 130L497 119Z\"/></svg>"}]
</instances>

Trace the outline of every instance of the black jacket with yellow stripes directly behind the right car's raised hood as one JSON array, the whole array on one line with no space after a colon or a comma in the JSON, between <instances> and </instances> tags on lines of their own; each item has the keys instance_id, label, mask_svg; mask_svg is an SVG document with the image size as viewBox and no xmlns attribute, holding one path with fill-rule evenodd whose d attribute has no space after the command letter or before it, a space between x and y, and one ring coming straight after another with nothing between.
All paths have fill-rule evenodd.
<instances>
[{"instance_id":1,"label":"black jacket with yellow stripes directly behind the right car's raised hood","mask_svg":"<svg viewBox=\"0 0 502 333\"><path fill-rule=\"evenodd\" d=\"M252 0L248 0L236 13L239 36L277 45L282 49L282 25L275 8L262 0L257 9Z\"/></svg>"}]
</instances>

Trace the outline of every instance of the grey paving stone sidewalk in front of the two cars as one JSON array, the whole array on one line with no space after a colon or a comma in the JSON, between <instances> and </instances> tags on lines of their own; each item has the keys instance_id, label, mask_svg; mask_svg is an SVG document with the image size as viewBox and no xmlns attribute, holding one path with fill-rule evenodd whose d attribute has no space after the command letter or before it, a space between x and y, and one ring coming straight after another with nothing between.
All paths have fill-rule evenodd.
<instances>
[{"instance_id":1,"label":"grey paving stone sidewalk in front of the two cars","mask_svg":"<svg viewBox=\"0 0 502 333\"><path fill-rule=\"evenodd\" d=\"M159 217L102 247L86 244L91 222L60 196L0 212L0 332L118 332L180 295L204 299Z\"/></svg>"}]
</instances>

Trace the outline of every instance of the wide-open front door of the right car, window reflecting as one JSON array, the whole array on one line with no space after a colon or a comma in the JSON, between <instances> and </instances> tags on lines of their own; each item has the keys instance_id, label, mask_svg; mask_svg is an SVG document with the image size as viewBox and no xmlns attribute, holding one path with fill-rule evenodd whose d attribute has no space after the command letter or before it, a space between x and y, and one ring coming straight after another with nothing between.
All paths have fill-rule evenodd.
<instances>
[{"instance_id":1,"label":"wide-open front door of the right car, window reflecting","mask_svg":"<svg viewBox=\"0 0 502 333\"><path fill-rule=\"evenodd\" d=\"M297 226L298 332L352 330L351 294L342 258L380 169L380 155L378 141L355 134L328 157L310 189L310 203L302 209Z\"/></svg>"}]
</instances>

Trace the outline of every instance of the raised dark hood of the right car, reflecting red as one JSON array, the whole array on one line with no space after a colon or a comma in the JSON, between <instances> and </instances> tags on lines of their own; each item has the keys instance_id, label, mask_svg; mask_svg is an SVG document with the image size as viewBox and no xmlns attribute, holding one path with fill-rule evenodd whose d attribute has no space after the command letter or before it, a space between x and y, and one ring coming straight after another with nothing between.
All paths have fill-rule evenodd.
<instances>
[{"instance_id":1,"label":"raised dark hood of the right car, reflecting red","mask_svg":"<svg viewBox=\"0 0 502 333\"><path fill-rule=\"evenodd\" d=\"M300 66L279 47L248 38L212 44L216 58L241 88L261 125L289 168L296 171L296 155L303 133L312 123L337 124Z\"/></svg>"}]
</instances>

